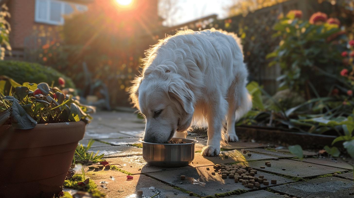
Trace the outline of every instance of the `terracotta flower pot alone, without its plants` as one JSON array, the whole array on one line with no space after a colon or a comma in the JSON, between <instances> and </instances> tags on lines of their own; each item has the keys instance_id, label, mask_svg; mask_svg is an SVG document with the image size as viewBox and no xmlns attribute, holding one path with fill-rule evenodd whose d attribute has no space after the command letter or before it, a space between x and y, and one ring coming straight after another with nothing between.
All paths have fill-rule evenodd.
<instances>
[{"instance_id":1,"label":"terracotta flower pot alone, without its plants","mask_svg":"<svg viewBox=\"0 0 354 198\"><path fill-rule=\"evenodd\" d=\"M61 191L83 121L37 124L33 129L0 126L0 197L53 197Z\"/></svg>"}]
</instances>

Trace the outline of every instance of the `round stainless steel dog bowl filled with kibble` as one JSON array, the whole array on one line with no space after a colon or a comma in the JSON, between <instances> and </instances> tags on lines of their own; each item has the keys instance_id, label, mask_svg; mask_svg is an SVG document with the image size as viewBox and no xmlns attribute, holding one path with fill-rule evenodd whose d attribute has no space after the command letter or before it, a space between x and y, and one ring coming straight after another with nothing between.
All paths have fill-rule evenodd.
<instances>
[{"instance_id":1,"label":"round stainless steel dog bowl filled with kibble","mask_svg":"<svg viewBox=\"0 0 354 198\"><path fill-rule=\"evenodd\" d=\"M150 165L158 167L183 167L190 164L194 159L194 145L197 140L172 138L175 142L186 144L157 144L143 143L143 158Z\"/></svg>"}]
</instances>

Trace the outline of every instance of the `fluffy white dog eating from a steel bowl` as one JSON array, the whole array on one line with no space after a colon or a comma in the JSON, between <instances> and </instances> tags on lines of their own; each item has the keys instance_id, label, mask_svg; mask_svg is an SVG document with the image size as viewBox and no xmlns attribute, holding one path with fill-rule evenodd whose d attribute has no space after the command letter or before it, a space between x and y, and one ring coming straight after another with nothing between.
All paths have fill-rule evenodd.
<instances>
[{"instance_id":1,"label":"fluffy white dog eating from a steel bowl","mask_svg":"<svg viewBox=\"0 0 354 198\"><path fill-rule=\"evenodd\" d=\"M225 138L238 141L235 122L251 109L252 101L236 35L215 29L178 31L146 55L142 75L130 88L133 103L146 119L144 141L185 138L192 121L207 123L204 156L219 155Z\"/></svg>"}]
</instances>

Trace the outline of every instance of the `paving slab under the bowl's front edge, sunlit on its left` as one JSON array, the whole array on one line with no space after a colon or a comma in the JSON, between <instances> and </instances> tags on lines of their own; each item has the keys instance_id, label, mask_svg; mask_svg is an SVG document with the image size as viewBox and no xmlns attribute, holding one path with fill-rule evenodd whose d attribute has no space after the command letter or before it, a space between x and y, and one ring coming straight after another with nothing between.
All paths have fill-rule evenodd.
<instances>
[{"instance_id":1,"label":"paving slab under the bowl's front edge, sunlit on its left","mask_svg":"<svg viewBox=\"0 0 354 198\"><path fill-rule=\"evenodd\" d=\"M153 167L148 165L144 161L142 156L114 157L114 158L106 158L106 160L110 164L115 164L118 168L128 171L129 173L132 174L192 168L190 166L176 167L176 168Z\"/></svg>"}]
</instances>

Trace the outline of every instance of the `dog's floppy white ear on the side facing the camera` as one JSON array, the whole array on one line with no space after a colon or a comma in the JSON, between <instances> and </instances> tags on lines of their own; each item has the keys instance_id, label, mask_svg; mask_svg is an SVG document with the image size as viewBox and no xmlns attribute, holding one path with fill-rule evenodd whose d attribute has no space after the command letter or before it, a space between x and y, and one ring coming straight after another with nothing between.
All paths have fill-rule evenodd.
<instances>
[{"instance_id":1,"label":"dog's floppy white ear on the side facing the camera","mask_svg":"<svg viewBox=\"0 0 354 198\"><path fill-rule=\"evenodd\" d=\"M183 107L184 112L194 112L194 94L180 78L172 79L169 85L169 96L175 98Z\"/></svg>"}]
</instances>

